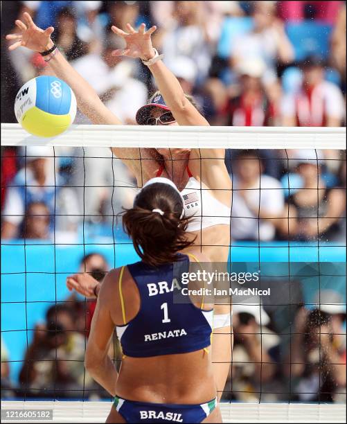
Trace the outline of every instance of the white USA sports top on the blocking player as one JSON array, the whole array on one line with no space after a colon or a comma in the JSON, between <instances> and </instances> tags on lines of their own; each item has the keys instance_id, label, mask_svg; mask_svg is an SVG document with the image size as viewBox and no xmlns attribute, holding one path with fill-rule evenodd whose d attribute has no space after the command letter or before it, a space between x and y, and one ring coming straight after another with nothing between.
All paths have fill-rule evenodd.
<instances>
[{"instance_id":1,"label":"white USA sports top on the blocking player","mask_svg":"<svg viewBox=\"0 0 347 424\"><path fill-rule=\"evenodd\" d=\"M163 168L159 169L160 177ZM230 225L231 208L211 195L211 189L199 183L187 167L189 180L181 191L184 200L184 213L187 218L194 217L188 224L187 231L201 231L213 225Z\"/></svg>"}]
</instances>

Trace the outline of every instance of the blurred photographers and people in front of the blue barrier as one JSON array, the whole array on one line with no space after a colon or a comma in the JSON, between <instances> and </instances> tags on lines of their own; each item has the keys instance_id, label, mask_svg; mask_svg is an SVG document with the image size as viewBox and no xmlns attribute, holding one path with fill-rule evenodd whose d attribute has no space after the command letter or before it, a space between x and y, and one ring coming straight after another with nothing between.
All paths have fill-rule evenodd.
<instances>
[{"instance_id":1,"label":"blurred photographers and people in front of the blue barrier","mask_svg":"<svg viewBox=\"0 0 347 424\"><path fill-rule=\"evenodd\" d=\"M109 269L107 258L95 251L83 256L75 272L102 281ZM341 274L344 266L336 270ZM340 277L339 282L337 276L330 277L330 284L318 283L316 277L314 285L310 279L292 277L289 289L285 278L264 278L269 297L233 304L233 352L222 400L346 403L345 279ZM312 303L303 303L303 292L312 288ZM13 362L3 343L7 333L1 337L2 398L109 398L84 369L96 301L73 292L64 301L46 303L45 315L30 328L22 346L18 380L10 378ZM122 352L116 335L109 356L119 369Z\"/></svg>"}]
</instances>

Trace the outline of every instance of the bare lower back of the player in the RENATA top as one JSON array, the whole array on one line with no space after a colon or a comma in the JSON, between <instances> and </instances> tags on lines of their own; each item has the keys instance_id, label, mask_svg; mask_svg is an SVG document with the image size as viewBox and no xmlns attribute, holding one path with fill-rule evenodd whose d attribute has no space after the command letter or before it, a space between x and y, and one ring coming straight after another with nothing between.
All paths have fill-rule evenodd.
<instances>
[{"instance_id":1,"label":"bare lower back of the player in the RENATA top","mask_svg":"<svg viewBox=\"0 0 347 424\"><path fill-rule=\"evenodd\" d=\"M208 347L208 350L210 347ZM211 353L124 357L116 394L148 403L197 405L215 398Z\"/></svg>"}]
</instances>

